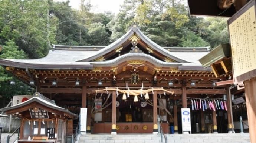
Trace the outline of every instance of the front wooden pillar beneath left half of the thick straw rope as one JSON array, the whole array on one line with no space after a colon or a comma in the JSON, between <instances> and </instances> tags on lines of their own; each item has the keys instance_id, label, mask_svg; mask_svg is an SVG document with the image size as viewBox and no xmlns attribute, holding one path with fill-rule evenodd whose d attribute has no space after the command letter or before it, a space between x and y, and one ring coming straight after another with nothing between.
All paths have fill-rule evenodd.
<instances>
[{"instance_id":1,"label":"front wooden pillar beneath left half of the thick straw rope","mask_svg":"<svg viewBox=\"0 0 256 143\"><path fill-rule=\"evenodd\" d=\"M112 128L111 134L116 134L116 91L112 92Z\"/></svg>"}]
</instances>

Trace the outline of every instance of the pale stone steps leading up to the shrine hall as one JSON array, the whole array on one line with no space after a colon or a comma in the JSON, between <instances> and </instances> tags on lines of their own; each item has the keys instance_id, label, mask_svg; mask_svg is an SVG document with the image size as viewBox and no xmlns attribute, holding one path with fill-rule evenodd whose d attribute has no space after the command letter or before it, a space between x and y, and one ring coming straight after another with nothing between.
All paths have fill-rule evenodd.
<instances>
[{"instance_id":1,"label":"pale stone steps leading up to the shrine hall","mask_svg":"<svg viewBox=\"0 0 256 143\"><path fill-rule=\"evenodd\" d=\"M118 134L81 135L79 143L160 143L161 135ZM250 143L249 133L167 134L168 143ZM164 138L163 138L164 143Z\"/></svg>"}]
</instances>

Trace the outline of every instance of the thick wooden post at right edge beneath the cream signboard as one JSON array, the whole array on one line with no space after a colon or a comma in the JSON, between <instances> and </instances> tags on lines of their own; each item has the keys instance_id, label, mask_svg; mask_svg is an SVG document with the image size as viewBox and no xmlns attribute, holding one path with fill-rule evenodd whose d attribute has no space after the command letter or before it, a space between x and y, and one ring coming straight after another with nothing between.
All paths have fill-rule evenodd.
<instances>
[{"instance_id":1,"label":"thick wooden post at right edge beneath the cream signboard","mask_svg":"<svg viewBox=\"0 0 256 143\"><path fill-rule=\"evenodd\" d=\"M256 143L256 79L244 81L251 143Z\"/></svg>"}]
</instances>

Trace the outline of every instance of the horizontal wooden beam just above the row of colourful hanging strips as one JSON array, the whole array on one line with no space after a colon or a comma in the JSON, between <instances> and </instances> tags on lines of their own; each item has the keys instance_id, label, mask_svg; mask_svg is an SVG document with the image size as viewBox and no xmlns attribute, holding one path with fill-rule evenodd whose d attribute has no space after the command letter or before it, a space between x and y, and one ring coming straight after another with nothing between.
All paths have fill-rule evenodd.
<instances>
[{"instance_id":1,"label":"horizontal wooden beam just above the row of colourful hanging strips","mask_svg":"<svg viewBox=\"0 0 256 143\"><path fill-rule=\"evenodd\" d=\"M227 94L226 89L187 89L187 94Z\"/></svg>"}]
</instances>

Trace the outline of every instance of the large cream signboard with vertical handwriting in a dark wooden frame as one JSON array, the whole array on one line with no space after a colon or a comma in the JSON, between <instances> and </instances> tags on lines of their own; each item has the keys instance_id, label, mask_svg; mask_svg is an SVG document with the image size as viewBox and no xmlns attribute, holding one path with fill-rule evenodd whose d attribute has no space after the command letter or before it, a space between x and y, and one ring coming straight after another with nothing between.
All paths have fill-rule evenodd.
<instances>
[{"instance_id":1,"label":"large cream signboard with vertical handwriting in a dark wooden frame","mask_svg":"<svg viewBox=\"0 0 256 143\"><path fill-rule=\"evenodd\" d=\"M255 0L251 0L227 21L234 83L256 76L255 8Z\"/></svg>"}]
</instances>

